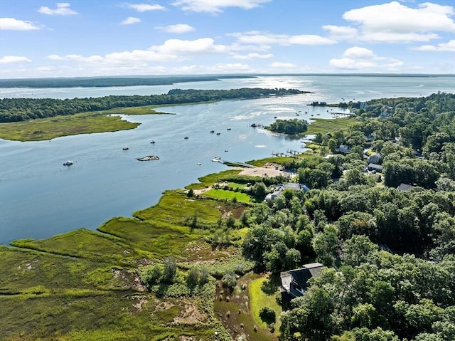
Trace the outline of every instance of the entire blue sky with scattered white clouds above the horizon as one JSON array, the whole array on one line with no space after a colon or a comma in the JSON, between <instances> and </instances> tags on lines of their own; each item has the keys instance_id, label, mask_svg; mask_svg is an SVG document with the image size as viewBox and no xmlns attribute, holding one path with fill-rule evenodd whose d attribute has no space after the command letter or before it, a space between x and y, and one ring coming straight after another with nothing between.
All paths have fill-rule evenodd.
<instances>
[{"instance_id":1,"label":"entire blue sky with scattered white clouds above the horizon","mask_svg":"<svg viewBox=\"0 0 455 341\"><path fill-rule=\"evenodd\" d=\"M454 0L0 1L0 78L455 73Z\"/></svg>"}]
</instances>

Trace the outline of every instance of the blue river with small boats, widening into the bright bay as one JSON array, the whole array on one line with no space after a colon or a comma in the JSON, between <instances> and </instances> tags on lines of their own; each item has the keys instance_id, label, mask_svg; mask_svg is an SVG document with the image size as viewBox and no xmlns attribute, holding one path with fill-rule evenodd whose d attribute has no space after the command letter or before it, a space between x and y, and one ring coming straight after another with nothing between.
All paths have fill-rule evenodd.
<instances>
[{"instance_id":1,"label":"blue river with small boats, widening into the bright bay","mask_svg":"<svg viewBox=\"0 0 455 341\"><path fill-rule=\"evenodd\" d=\"M307 120L311 115L331 117L324 107L306 106L314 100L338 103L341 98L417 97L438 90L454 93L454 80L287 76L178 86L30 89L34 97L53 94L54 98L144 95L165 93L171 88L299 88L313 93L162 107L159 110L177 115L130 116L127 120L141 125L122 132L60 137L50 142L0 140L0 244L18 238L48 238L80 227L96 229L112 216L131 216L156 204L165 189L183 188L205 174L228 169L211 162L213 157L248 161L269 157L272 151L300 148L299 140L274 135L262 127L252 128L253 122L268 125L275 116L294 118L296 112ZM8 90L8 97L24 96L28 91ZM0 91L6 96L5 89ZM220 135L210 134L210 130ZM156 143L151 144L151 140ZM126 146L129 150L122 150ZM160 159L136 159L150 154ZM63 166L68 159L75 163Z\"/></svg>"}]
</instances>

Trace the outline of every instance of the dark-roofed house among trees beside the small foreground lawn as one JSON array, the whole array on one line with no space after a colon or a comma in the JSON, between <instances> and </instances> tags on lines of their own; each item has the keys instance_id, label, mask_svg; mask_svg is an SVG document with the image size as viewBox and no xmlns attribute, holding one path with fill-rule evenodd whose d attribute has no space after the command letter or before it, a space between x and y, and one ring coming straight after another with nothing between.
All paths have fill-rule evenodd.
<instances>
[{"instance_id":1,"label":"dark-roofed house among trees beside the small foreground lawn","mask_svg":"<svg viewBox=\"0 0 455 341\"><path fill-rule=\"evenodd\" d=\"M280 277L282 280L282 295L296 298L304 294L310 278L319 276L323 268L321 263L305 264L301 268L284 271Z\"/></svg>"}]
</instances>

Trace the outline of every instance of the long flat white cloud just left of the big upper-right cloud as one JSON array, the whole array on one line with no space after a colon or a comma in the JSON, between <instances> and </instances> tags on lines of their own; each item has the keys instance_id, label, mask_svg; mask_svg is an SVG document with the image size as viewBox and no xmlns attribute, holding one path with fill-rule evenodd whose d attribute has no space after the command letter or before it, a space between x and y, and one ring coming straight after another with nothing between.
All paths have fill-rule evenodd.
<instances>
[{"instance_id":1,"label":"long flat white cloud just left of the big upper-right cloud","mask_svg":"<svg viewBox=\"0 0 455 341\"><path fill-rule=\"evenodd\" d=\"M237 38L239 43L269 45L330 45L336 41L322 36L303 34L289 36L287 34L273 34L261 31L248 31L243 33L230 33L228 36Z\"/></svg>"}]
</instances>

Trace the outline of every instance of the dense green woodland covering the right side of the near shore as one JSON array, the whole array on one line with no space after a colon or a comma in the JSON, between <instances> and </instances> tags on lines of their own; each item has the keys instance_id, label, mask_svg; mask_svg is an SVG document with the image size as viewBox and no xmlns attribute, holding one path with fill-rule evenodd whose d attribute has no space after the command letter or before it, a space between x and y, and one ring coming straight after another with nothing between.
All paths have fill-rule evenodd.
<instances>
[{"instance_id":1,"label":"dense green woodland covering the right side of the near shore","mask_svg":"<svg viewBox=\"0 0 455 341\"><path fill-rule=\"evenodd\" d=\"M243 255L274 274L327 266L282 302L282 340L455 340L455 95L365 104L347 135L316 136L336 154L284 162L309 190L247 209Z\"/></svg>"}]
</instances>

